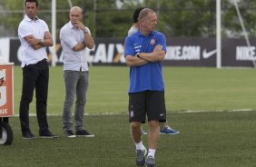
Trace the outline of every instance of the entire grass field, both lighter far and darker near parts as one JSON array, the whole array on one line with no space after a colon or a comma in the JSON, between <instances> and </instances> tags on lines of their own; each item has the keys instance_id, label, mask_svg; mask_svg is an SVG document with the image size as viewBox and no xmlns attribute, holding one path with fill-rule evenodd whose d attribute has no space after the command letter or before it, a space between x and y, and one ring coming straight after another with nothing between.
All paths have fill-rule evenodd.
<instances>
[{"instance_id":1,"label":"entire grass field, both lighter far and darker near parts","mask_svg":"<svg viewBox=\"0 0 256 167\"><path fill-rule=\"evenodd\" d=\"M256 159L256 70L164 67L168 121L178 135L161 135L156 152L160 167L251 167ZM126 67L93 66L85 116L94 138L64 138L62 67L51 68L48 113L58 139L25 141L18 117L10 118L15 139L0 146L3 167L131 167L134 145L129 133ZM15 66L15 114L22 72ZM34 112L34 102L31 104ZM97 114L94 114L97 113ZM101 114L113 113L113 114ZM37 134L36 118L31 129ZM147 126L143 126L147 130ZM144 136L143 142L147 145Z\"/></svg>"}]
</instances>

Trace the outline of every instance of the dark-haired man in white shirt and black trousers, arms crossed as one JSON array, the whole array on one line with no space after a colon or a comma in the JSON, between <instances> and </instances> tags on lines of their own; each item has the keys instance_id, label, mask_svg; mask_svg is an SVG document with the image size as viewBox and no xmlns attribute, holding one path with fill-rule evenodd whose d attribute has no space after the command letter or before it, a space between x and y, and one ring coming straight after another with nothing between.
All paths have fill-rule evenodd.
<instances>
[{"instance_id":1,"label":"dark-haired man in white shirt and black trousers, arms crossed","mask_svg":"<svg viewBox=\"0 0 256 167\"><path fill-rule=\"evenodd\" d=\"M18 35L23 48L23 88L20 101L20 122L24 139L34 139L29 126L29 103L33 100L35 88L36 116L39 136L42 138L58 137L48 129L46 118L49 66L46 46L53 45L52 34L44 20L37 14L37 0L25 0L25 18L18 27Z\"/></svg>"}]
</instances>

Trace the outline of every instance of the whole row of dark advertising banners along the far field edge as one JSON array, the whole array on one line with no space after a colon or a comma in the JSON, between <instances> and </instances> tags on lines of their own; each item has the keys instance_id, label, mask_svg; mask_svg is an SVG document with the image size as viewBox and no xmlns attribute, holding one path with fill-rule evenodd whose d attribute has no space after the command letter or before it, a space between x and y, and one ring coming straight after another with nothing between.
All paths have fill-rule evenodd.
<instances>
[{"instance_id":1,"label":"whole row of dark advertising banners along the far field edge","mask_svg":"<svg viewBox=\"0 0 256 167\"><path fill-rule=\"evenodd\" d=\"M1 42L1 40L0 40ZM22 47L19 40L10 39L9 44L2 40L2 52L9 53L5 57L9 62L21 64ZM250 39L248 46L244 39L222 39L222 67L254 67L256 61L256 39ZM125 65L123 56L124 38L96 38L93 49L86 49L89 64ZM170 66L203 66L216 67L216 40L215 38L166 38L167 53L164 65ZM6 47L10 46L9 50ZM0 45L1 48L1 45ZM0 49L1 50L1 49ZM47 49L48 59L51 61L53 49ZM56 44L54 50L57 57L56 64L63 64L61 44Z\"/></svg>"}]
</instances>

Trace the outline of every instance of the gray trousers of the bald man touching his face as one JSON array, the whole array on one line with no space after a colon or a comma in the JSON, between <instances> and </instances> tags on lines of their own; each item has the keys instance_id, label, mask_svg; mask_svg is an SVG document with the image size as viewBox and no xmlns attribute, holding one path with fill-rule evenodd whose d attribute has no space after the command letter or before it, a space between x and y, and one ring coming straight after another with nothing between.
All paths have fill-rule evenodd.
<instances>
[{"instance_id":1,"label":"gray trousers of the bald man touching his face","mask_svg":"<svg viewBox=\"0 0 256 167\"><path fill-rule=\"evenodd\" d=\"M84 106L89 84L89 72L64 71L65 101L63 113L63 130L72 130L72 108L76 95L74 108L75 131L84 130Z\"/></svg>"}]
</instances>

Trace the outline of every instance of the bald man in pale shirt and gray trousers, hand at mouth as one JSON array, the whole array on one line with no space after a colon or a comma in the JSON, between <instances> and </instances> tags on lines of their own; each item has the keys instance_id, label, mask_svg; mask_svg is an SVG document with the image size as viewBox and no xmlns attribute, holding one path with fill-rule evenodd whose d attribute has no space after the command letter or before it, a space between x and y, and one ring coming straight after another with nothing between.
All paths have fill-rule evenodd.
<instances>
[{"instance_id":1,"label":"bald man in pale shirt and gray trousers, hand at mouth","mask_svg":"<svg viewBox=\"0 0 256 167\"><path fill-rule=\"evenodd\" d=\"M60 40L64 52L64 85L65 101L63 112L63 131L66 137L94 137L84 129L84 106L89 83L89 69L85 48L94 47L94 38L90 30L82 23L82 9L78 6L71 8L70 21L60 31ZM74 109L74 129L71 121Z\"/></svg>"}]
</instances>

